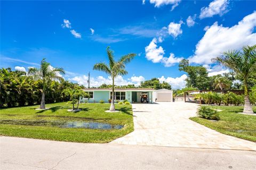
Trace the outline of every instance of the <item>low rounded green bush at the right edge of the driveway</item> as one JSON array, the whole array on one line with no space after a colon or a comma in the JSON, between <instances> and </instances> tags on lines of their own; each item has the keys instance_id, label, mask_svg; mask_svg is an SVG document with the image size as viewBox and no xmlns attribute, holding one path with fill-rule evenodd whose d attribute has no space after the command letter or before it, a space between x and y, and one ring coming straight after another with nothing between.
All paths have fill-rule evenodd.
<instances>
[{"instance_id":1,"label":"low rounded green bush at the right edge of the driveway","mask_svg":"<svg viewBox=\"0 0 256 170\"><path fill-rule=\"evenodd\" d=\"M206 107L206 106L201 106L197 109L197 115L202 117L202 118L206 118L209 120L220 120L220 116L217 113L217 111L214 111L213 109L211 109L210 107Z\"/></svg>"}]
</instances>

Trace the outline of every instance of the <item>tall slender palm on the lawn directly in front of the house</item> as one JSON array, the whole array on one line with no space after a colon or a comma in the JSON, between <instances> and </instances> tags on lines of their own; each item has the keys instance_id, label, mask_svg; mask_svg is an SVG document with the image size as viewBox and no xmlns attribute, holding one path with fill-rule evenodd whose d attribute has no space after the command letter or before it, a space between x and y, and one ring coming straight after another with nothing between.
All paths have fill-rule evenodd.
<instances>
[{"instance_id":1,"label":"tall slender palm on the lawn directly in front of the house","mask_svg":"<svg viewBox=\"0 0 256 170\"><path fill-rule=\"evenodd\" d=\"M105 63L97 63L93 66L93 70L99 70L107 73L110 75L112 79L112 100L111 105L109 108L110 112L115 111L115 104L114 104L114 93L115 93L115 78L118 75L126 75L128 72L125 70L125 64L129 63L136 54L130 53L127 55L122 56L118 61L114 60L113 50L107 47L107 55L109 60L109 65Z\"/></svg>"}]
</instances>

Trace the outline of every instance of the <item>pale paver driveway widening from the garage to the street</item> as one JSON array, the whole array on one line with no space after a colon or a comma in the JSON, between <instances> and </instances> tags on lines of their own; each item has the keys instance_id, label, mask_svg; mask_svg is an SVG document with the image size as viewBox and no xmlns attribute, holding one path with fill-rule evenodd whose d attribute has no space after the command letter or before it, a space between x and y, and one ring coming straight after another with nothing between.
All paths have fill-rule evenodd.
<instances>
[{"instance_id":1,"label":"pale paver driveway widening from the garage to the street","mask_svg":"<svg viewBox=\"0 0 256 170\"><path fill-rule=\"evenodd\" d=\"M256 143L206 128L189 117L198 105L183 102L132 104L134 131L111 143L167 147L256 150Z\"/></svg>"}]
</instances>

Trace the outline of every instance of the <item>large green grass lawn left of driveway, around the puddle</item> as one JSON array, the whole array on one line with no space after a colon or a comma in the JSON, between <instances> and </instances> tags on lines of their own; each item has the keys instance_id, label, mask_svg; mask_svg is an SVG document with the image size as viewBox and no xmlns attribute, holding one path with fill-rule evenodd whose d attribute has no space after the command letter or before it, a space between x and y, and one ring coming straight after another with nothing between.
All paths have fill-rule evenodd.
<instances>
[{"instance_id":1,"label":"large green grass lawn left of driveway, around the puddle","mask_svg":"<svg viewBox=\"0 0 256 170\"><path fill-rule=\"evenodd\" d=\"M0 135L49 139L71 142L106 143L123 137L133 131L131 105L116 105L121 112L106 113L110 104L80 104L82 111L67 112L72 105L63 103L46 104L49 110L37 111L39 106L0 109ZM124 125L116 130L95 130L84 128L61 128L70 121L86 121Z\"/></svg>"}]
</instances>

